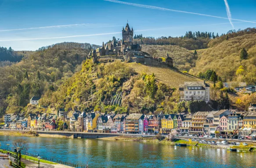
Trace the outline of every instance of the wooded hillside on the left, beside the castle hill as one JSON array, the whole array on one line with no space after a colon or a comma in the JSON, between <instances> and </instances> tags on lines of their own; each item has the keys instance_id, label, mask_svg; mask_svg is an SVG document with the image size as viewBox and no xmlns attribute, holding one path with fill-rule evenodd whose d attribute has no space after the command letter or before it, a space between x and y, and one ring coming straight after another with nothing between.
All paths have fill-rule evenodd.
<instances>
[{"instance_id":1,"label":"wooded hillside on the left, beside the castle hill","mask_svg":"<svg viewBox=\"0 0 256 168\"><path fill-rule=\"evenodd\" d=\"M0 113L19 112L33 95L57 90L62 82L81 70L90 47L67 44L48 46L26 55L19 63L0 67Z\"/></svg>"}]
</instances>

